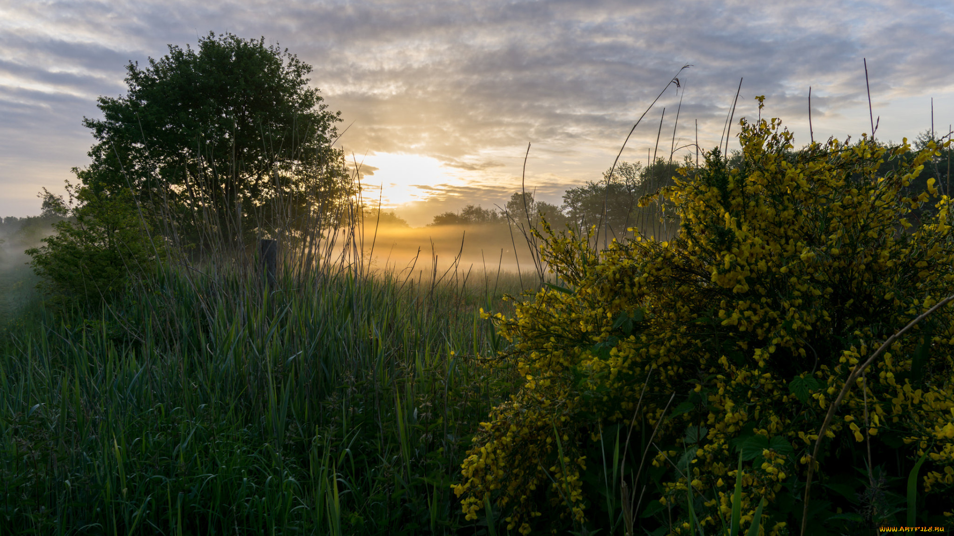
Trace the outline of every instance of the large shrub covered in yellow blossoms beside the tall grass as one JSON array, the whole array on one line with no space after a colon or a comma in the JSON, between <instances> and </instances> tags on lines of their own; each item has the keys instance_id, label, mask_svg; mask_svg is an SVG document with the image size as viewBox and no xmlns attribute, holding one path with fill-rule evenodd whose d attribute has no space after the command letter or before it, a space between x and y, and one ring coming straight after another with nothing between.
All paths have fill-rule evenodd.
<instances>
[{"instance_id":1,"label":"large shrub covered in yellow blossoms beside the tall grass","mask_svg":"<svg viewBox=\"0 0 954 536\"><path fill-rule=\"evenodd\" d=\"M796 153L778 119L741 125L741 164L713 152L663 192L681 225L674 239L596 253L587 237L544 225L543 254L570 288L550 285L495 318L525 382L481 423L462 465L454 490L468 519L489 499L521 534L606 523L590 513L603 499L587 473L599 472L596 487L615 474L593 453L622 425L650 446L638 483L642 451L623 453L634 496L648 486L642 508L658 502L685 520L693 485L701 525L721 527L741 455L743 527L761 498L766 533L798 526L807 455L852 367L954 292L951 200L934 179L911 187L933 142L913 153L906 139L888 149L862 137ZM928 204L929 220L907 221ZM861 511L823 484L857 479L868 452L906 478L926 452L919 507L950 515L952 313L924 320L849 392L822 443L814 501ZM689 533L682 521L668 530Z\"/></svg>"}]
</instances>

